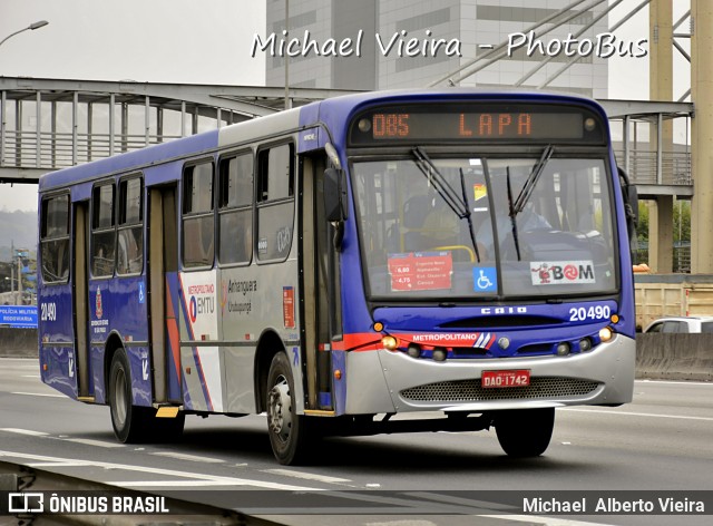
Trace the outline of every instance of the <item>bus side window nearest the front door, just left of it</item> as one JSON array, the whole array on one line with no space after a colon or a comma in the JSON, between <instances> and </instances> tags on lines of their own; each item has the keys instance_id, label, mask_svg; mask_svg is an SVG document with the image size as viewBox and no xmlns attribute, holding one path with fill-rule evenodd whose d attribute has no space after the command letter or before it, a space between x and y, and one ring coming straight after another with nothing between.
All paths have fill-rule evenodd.
<instances>
[{"instance_id":1,"label":"bus side window nearest the front door, just left of it","mask_svg":"<svg viewBox=\"0 0 713 526\"><path fill-rule=\"evenodd\" d=\"M294 221L294 146L257 154L257 259L284 261L292 246Z\"/></svg>"}]
</instances>

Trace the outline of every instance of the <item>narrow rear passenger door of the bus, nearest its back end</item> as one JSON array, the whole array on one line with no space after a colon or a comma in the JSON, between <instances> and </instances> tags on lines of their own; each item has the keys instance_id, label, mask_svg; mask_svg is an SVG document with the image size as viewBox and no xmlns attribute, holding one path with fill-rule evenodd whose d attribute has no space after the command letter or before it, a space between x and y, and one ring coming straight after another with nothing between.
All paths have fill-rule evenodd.
<instances>
[{"instance_id":1,"label":"narrow rear passenger door of the bus, nearest its back end","mask_svg":"<svg viewBox=\"0 0 713 526\"><path fill-rule=\"evenodd\" d=\"M91 360L89 353L89 276L87 269L89 250L89 202L75 205L75 243L72 254L72 311L75 313L75 352L77 368L77 396L79 399L94 398ZM70 366L71 367L71 366ZM72 371L70 370L70 373Z\"/></svg>"}]
</instances>

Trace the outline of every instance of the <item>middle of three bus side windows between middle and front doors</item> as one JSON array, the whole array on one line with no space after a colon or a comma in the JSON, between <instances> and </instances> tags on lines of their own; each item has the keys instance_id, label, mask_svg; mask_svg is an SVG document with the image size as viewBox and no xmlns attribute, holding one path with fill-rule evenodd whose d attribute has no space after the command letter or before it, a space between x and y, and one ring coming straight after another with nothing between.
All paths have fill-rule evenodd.
<instances>
[{"instance_id":1,"label":"middle of three bus side windows between middle and front doors","mask_svg":"<svg viewBox=\"0 0 713 526\"><path fill-rule=\"evenodd\" d=\"M250 263L253 255L253 155L224 158L219 165L218 260Z\"/></svg>"}]
</instances>

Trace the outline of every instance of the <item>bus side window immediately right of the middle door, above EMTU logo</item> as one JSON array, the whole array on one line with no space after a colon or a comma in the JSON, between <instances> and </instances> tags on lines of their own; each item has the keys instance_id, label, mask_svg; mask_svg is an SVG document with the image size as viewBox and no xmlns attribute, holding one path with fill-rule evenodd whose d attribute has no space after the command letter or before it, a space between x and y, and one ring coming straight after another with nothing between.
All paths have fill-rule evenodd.
<instances>
[{"instance_id":1,"label":"bus side window immediately right of the middle door, above EMTU logo","mask_svg":"<svg viewBox=\"0 0 713 526\"><path fill-rule=\"evenodd\" d=\"M212 266L215 259L213 162L186 166L183 173L183 264Z\"/></svg>"}]
</instances>

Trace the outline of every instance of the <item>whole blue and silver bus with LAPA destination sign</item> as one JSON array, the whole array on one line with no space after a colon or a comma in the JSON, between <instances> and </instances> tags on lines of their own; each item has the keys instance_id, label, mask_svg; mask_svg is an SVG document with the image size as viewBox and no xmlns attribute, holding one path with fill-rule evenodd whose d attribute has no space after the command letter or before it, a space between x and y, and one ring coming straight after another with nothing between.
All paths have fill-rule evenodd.
<instances>
[{"instance_id":1,"label":"whole blue and silver bus with LAPA destination sign","mask_svg":"<svg viewBox=\"0 0 713 526\"><path fill-rule=\"evenodd\" d=\"M313 103L39 183L42 380L123 442L266 413L320 437L494 428L631 401L634 192L593 100L473 89Z\"/></svg>"}]
</instances>

